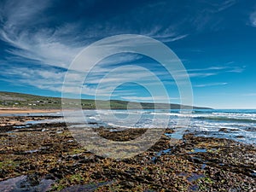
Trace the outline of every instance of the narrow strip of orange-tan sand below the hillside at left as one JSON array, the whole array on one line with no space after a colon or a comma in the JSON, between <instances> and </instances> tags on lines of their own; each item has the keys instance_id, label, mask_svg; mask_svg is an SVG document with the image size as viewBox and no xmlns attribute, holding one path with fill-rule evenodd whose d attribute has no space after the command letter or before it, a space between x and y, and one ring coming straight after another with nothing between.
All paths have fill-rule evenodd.
<instances>
[{"instance_id":1,"label":"narrow strip of orange-tan sand below the hillside at left","mask_svg":"<svg viewBox=\"0 0 256 192\"><path fill-rule=\"evenodd\" d=\"M0 108L0 114L15 113L55 113L61 109L32 109L32 108Z\"/></svg>"}]
</instances>

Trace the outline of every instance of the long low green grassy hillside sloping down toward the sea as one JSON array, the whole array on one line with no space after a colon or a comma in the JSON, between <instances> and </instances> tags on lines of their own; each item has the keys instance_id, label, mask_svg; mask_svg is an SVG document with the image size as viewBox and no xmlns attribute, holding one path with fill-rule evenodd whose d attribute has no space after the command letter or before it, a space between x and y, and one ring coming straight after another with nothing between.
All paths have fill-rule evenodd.
<instances>
[{"instance_id":1,"label":"long low green grassy hillside sloping down toward the sea","mask_svg":"<svg viewBox=\"0 0 256 192\"><path fill-rule=\"evenodd\" d=\"M107 101L97 101L97 107L102 109L108 109ZM129 108L141 108L150 109L154 108L154 103L150 102L126 102L119 100L111 100L110 106L112 109L126 109L129 103ZM94 100L83 99L81 101L82 108L94 109L96 108ZM67 105L73 107L74 100L69 99ZM170 104L158 103L156 108L169 108ZM0 108L37 108L37 109L57 109L61 108L61 98L51 96L35 96L23 93L3 92L0 91ZM179 109L181 105L171 104L172 109ZM189 106L182 106L182 108L191 108ZM201 107L193 107L195 109L204 109ZM209 108L205 108L209 109Z\"/></svg>"}]
</instances>

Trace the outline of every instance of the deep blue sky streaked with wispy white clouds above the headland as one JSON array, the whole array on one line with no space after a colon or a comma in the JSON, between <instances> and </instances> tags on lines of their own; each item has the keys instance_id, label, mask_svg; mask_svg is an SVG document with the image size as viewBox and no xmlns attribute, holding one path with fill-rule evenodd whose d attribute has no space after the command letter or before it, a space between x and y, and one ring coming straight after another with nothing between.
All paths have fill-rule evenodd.
<instances>
[{"instance_id":1,"label":"deep blue sky streaked with wispy white clouds above the headland","mask_svg":"<svg viewBox=\"0 0 256 192\"><path fill-rule=\"evenodd\" d=\"M8 0L0 3L0 22L1 90L61 96L67 68L84 47L113 35L140 34L163 42L180 58L195 105L256 108L253 0ZM83 97L94 98L96 85L114 67L131 64L155 73L166 85L170 102L179 102L177 86L160 64L136 54L112 55L98 63L84 84ZM113 82L138 76L154 85L147 74L131 68L103 79L98 93L104 98ZM117 87L112 98L152 101L147 90L132 82Z\"/></svg>"}]
</instances>

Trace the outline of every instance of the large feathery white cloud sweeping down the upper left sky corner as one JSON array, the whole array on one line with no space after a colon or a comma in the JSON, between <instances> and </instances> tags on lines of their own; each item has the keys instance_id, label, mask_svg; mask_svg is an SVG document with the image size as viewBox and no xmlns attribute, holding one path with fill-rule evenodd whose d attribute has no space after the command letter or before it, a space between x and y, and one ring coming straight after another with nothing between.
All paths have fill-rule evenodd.
<instances>
[{"instance_id":1,"label":"large feathery white cloud sweeping down the upper left sky corner","mask_svg":"<svg viewBox=\"0 0 256 192\"><path fill-rule=\"evenodd\" d=\"M6 49L21 61L32 60L57 67L68 67L73 57L81 49L77 44L65 44L61 35L72 32L73 26L61 26L58 29L48 27L35 28L47 22L44 10L51 1L6 1L1 16L5 19L0 29L0 38L12 47ZM7 58L8 59L8 58ZM10 58L14 60L14 57Z\"/></svg>"}]
</instances>

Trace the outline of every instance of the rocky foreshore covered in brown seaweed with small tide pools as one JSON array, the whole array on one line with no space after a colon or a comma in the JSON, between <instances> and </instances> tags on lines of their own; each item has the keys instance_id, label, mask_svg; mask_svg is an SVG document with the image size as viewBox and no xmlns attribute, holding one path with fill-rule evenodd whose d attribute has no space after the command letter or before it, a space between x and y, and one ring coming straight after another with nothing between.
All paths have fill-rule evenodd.
<instances>
[{"instance_id":1,"label":"rocky foreshore covered in brown seaweed with small tide pools","mask_svg":"<svg viewBox=\"0 0 256 192\"><path fill-rule=\"evenodd\" d=\"M143 154L113 160L92 154L64 123L27 125L49 117L0 117L1 191L256 191L256 148L228 139L166 129ZM146 129L95 129L128 141Z\"/></svg>"}]
</instances>

